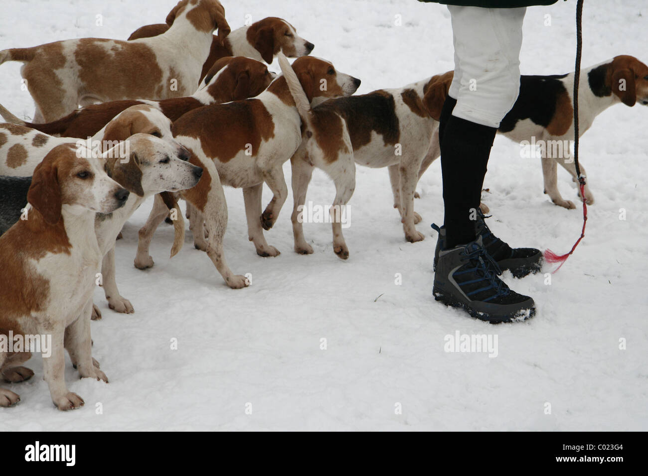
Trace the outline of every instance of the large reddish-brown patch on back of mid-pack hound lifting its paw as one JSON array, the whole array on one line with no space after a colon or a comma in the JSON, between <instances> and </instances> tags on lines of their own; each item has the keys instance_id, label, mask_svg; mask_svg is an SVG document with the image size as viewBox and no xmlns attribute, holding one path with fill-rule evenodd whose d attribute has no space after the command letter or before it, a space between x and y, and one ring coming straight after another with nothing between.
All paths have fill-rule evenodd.
<instances>
[{"instance_id":1,"label":"large reddish-brown patch on back of mid-pack hound lifting its paw","mask_svg":"<svg viewBox=\"0 0 648 476\"><path fill-rule=\"evenodd\" d=\"M200 139L207 157L226 163L247 144L256 156L261 141L275 136L275 124L260 100L248 99L194 109L174 122L172 131L174 137Z\"/></svg>"}]
</instances>

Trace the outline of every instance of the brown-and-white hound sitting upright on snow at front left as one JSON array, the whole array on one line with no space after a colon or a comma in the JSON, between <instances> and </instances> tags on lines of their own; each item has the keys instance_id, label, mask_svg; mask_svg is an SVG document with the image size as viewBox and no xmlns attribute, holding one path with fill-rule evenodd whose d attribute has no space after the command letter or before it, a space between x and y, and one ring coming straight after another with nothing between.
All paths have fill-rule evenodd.
<instances>
[{"instance_id":1,"label":"brown-and-white hound sitting upright on snow at front left","mask_svg":"<svg viewBox=\"0 0 648 476\"><path fill-rule=\"evenodd\" d=\"M108 177L101 160L79 157L75 144L53 148L34 170L27 220L19 220L0 236L0 335L51 337L44 356L45 381L60 410L84 401L65 385L65 352L82 378L108 381L93 364L90 312L101 254L95 234L95 212L122 207L129 192ZM87 150L88 154L92 152ZM16 352L0 346L0 374L10 382L34 372L21 364L32 348ZM19 396L0 389L0 406L15 405Z\"/></svg>"}]
</instances>

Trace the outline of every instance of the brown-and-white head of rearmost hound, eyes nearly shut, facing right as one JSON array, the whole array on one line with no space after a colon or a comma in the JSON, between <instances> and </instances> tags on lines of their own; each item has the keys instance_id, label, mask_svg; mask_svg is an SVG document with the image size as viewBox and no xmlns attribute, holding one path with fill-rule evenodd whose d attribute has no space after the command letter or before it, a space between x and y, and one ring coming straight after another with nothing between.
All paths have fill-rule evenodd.
<instances>
[{"instance_id":1,"label":"brown-and-white head of rearmost hound, eyes nearly shut, facing right","mask_svg":"<svg viewBox=\"0 0 648 476\"><path fill-rule=\"evenodd\" d=\"M264 62L272 63L272 58L279 51L288 58L307 56L315 45L297 35L295 27L286 20L268 17L252 23L248 28L247 38L259 53Z\"/></svg>"}]
</instances>

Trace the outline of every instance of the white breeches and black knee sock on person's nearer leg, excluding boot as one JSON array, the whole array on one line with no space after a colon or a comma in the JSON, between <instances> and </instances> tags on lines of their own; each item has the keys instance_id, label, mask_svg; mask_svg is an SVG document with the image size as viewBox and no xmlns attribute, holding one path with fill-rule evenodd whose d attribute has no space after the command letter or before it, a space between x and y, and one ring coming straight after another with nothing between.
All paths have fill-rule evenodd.
<instances>
[{"instance_id":1,"label":"white breeches and black knee sock on person's nearer leg, excluding boot","mask_svg":"<svg viewBox=\"0 0 648 476\"><path fill-rule=\"evenodd\" d=\"M446 248L476 238L475 210L492 141L520 89L526 8L449 5L448 10L455 74L439 128Z\"/></svg>"}]
</instances>

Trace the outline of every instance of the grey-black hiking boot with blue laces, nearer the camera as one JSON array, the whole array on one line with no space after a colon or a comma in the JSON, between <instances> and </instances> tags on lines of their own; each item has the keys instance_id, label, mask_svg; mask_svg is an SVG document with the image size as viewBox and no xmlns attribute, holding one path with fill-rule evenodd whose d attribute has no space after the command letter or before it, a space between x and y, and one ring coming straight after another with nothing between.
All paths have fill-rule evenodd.
<instances>
[{"instance_id":1,"label":"grey-black hiking boot with blue laces, nearer the camera","mask_svg":"<svg viewBox=\"0 0 648 476\"><path fill-rule=\"evenodd\" d=\"M434 273L434 299L492 324L533 317L533 299L509 289L498 277L501 274L481 236L467 245L441 249Z\"/></svg>"}]
</instances>

